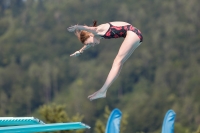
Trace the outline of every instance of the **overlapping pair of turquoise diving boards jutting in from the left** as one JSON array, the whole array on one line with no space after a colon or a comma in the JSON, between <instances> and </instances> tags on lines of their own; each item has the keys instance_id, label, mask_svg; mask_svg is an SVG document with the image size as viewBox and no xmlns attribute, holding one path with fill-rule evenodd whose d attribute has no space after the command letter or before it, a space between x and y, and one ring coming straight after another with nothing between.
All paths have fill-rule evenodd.
<instances>
[{"instance_id":1,"label":"overlapping pair of turquoise diving boards jutting in from the left","mask_svg":"<svg viewBox=\"0 0 200 133\"><path fill-rule=\"evenodd\" d=\"M0 127L0 133L33 133L90 128L81 122L45 124L34 117L2 117L0 126L6 126Z\"/></svg>"}]
</instances>

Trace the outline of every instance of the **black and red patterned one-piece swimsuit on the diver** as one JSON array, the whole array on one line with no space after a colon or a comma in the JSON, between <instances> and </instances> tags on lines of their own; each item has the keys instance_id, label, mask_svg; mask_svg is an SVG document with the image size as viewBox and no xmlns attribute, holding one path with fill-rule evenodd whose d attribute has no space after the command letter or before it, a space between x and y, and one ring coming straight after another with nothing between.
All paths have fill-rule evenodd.
<instances>
[{"instance_id":1,"label":"black and red patterned one-piece swimsuit on the diver","mask_svg":"<svg viewBox=\"0 0 200 133\"><path fill-rule=\"evenodd\" d=\"M140 42L143 41L143 36L142 36L142 33L140 32L140 30L138 30L137 28L133 27L132 25L114 26L111 23L109 23L109 25L110 25L110 28L101 37L103 37L105 39L119 38L119 37L124 37L125 38L127 31L133 31L140 38Z\"/></svg>"}]
</instances>

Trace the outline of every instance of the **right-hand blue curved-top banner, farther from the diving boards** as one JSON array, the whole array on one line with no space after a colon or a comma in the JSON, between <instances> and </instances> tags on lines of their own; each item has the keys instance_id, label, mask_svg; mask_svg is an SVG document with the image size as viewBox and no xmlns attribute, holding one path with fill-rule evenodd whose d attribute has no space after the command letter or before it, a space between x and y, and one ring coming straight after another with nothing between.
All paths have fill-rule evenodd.
<instances>
[{"instance_id":1,"label":"right-hand blue curved-top banner, farther from the diving boards","mask_svg":"<svg viewBox=\"0 0 200 133\"><path fill-rule=\"evenodd\" d=\"M162 125L162 133L174 133L174 122L176 113L173 110L168 110Z\"/></svg>"}]
</instances>

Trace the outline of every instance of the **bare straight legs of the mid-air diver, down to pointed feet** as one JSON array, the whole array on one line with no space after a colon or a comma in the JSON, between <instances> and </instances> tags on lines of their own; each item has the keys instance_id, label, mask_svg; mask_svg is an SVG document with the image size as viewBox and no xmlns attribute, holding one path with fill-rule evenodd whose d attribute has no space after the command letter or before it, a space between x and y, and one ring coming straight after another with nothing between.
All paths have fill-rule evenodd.
<instances>
[{"instance_id":1,"label":"bare straight legs of the mid-air diver, down to pointed feet","mask_svg":"<svg viewBox=\"0 0 200 133\"><path fill-rule=\"evenodd\" d=\"M119 52L113 62L112 68L108 74L108 77L100 90L94 94L88 96L90 100L106 97L107 89L118 77L123 64L131 56L133 51L140 45L139 37L132 31L127 32L127 36L124 39Z\"/></svg>"}]
</instances>

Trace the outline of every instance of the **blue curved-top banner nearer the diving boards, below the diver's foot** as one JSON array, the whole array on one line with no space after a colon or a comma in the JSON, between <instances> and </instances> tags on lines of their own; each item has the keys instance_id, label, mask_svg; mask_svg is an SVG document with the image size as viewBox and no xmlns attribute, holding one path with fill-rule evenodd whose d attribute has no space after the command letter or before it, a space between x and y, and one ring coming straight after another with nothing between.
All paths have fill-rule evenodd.
<instances>
[{"instance_id":1,"label":"blue curved-top banner nearer the diving boards, below the diver's foot","mask_svg":"<svg viewBox=\"0 0 200 133\"><path fill-rule=\"evenodd\" d=\"M108 118L105 133L119 133L121 117L121 111L119 109L114 109Z\"/></svg>"}]
</instances>

